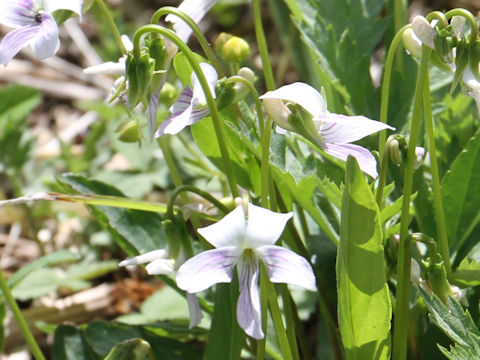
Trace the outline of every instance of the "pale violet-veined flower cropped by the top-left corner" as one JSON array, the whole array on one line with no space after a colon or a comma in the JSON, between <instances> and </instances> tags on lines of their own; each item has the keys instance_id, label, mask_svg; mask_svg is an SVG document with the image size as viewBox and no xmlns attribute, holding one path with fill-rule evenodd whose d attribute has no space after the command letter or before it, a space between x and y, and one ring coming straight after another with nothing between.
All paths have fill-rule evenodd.
<instances>
[{"instance_id":1,"label":"pale violet-veined flower cropped by the top-left corner","mask_svg":"<svg viewBox=\"0 0 480 360\"><path fill-rule=\"evenodd\" d=\"M39 59L54 56L60 40L51 13L65 9L81 15L82 3L82 0L0 0L0 24L14 28L0 43L0 64L7 66L27 45Z\"/></svg>"}]
</instances>

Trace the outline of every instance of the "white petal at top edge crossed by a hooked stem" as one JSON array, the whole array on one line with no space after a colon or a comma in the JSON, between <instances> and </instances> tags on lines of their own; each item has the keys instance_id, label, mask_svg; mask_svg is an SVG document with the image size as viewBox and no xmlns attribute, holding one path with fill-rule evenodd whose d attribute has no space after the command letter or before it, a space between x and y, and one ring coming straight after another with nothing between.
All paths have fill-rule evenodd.
<instances>
[{"instance_id":1,"label":"white petal at top edge crossed by a hooked stem","mask_svg":"<svg viewBox=\"0 0 480 360\"><path fill-rule=\"evenodd\" d=\"M183 11L198 24L216 2L217 0L185 0L180 4L178 10ZM182 19L170 14L165 20L173 23L173 29L183 42L188 42L192 29Z\"/></svg>"}]
</instances>

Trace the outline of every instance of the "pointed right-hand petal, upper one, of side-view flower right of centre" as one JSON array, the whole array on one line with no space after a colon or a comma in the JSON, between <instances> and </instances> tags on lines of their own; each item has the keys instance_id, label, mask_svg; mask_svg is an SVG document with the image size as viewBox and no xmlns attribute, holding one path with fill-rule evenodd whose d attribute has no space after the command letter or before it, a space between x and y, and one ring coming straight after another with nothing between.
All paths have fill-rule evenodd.
<instances>
[{"instance_id":1,"label":"pointed right-hand petal, upper one, of side-view flower right of centre","mask_svg":"<svg viewBox=\"0 0 480 360\"><path fill-rule=\"evenodd\" d=\"M370 120L365 116L346 116L326 114L313 119L318 124L318 131L326 143L346 144L357 141L380 130L395 128L380 121Z\"/></svg>"}]
</instances>

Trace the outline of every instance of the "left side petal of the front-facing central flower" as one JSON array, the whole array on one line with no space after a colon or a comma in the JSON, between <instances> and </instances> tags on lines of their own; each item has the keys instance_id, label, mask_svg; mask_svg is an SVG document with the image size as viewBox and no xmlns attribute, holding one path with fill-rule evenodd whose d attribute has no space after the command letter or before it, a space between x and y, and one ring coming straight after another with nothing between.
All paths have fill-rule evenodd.
<instances>
[{"instance_id":1,"label":"left side petal of the front-facing central flower","mask_svg":"<svg viewBox=\"0 0 480 360\"><path fill-rule=\"evenodd\" d=\"M204 251L188 259L177 273L177 285L189 293L208 289L218 283L232 281L233 266L237 261L233 246Z\"/></svg>"}]
</instances>

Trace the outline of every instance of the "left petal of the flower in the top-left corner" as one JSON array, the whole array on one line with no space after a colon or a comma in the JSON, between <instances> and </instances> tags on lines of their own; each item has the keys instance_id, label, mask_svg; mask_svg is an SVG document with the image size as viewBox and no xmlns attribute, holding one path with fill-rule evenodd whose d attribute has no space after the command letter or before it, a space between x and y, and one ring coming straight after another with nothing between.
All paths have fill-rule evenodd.
<instances>
[{"instance_id":1,"label":"left petal of the flower in the top-left corner","mask_svg":"<svg viewBox=\"0 0 480 360\"><path fill-rule=\"evenodd\" d=\"M0 0L0 24L13 28L37 24L33 1Z\"/></svg>"}]
</instances>

